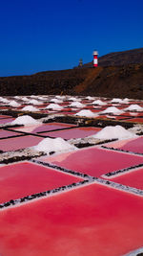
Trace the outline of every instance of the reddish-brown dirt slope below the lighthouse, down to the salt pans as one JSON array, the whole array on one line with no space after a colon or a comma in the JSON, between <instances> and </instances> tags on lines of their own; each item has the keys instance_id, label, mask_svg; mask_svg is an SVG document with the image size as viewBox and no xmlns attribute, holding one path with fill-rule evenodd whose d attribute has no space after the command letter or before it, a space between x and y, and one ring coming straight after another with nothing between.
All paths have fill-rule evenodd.
<instances>
[{"instance_id":1,"label":"reddish-brown dirt slope below the lighthouse, down to the salt pans","mask_svg":"<svg viewBox=\"0 0 143 256\"><path fill-rule=\"evenodd\" d=\"M75 94L143 99L143 64L97 67L90 76L75 86Z\"/></svg>"}]
</instances>

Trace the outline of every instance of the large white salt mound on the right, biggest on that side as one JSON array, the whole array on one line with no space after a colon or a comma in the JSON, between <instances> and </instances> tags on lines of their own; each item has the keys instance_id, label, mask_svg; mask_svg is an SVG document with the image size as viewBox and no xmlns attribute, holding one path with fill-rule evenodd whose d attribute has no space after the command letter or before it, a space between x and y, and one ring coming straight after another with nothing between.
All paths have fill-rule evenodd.
<instances>
[{"instance_id":1,"label":"large white salt mound on the right, biggest on that side","mask_svg":"<svg viewBox=\"0 0 143 256\"><path fill-rule=\"evenodd\" d=\"M131 131L126 128L122 128L121 126L115 127L106 127L102 130L98 131L95 135L90 137L100 139L100 140L111 140L111 139L128 139L137 137L137 135L133 134Z\"/></svg>"}]
</instances>

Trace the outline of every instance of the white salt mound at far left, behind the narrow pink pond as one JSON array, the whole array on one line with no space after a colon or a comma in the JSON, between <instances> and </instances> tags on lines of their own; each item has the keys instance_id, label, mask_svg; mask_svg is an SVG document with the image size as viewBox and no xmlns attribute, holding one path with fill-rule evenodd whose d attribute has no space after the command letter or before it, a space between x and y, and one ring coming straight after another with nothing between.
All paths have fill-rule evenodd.
<instances>
[{"instance_id":1,"label":"white salt mound at far left, behind the narrow pink pond","mask_svg":"<svg viewBox=\"0 0 143 256\"><path fill-rule=\"evenodd\" d=\"M40 124L41 124L40 122L33 119L29 115L19 116L10 123L10 125L24 125L24 126L40 125Z\"/></svg>"}]
</instances>

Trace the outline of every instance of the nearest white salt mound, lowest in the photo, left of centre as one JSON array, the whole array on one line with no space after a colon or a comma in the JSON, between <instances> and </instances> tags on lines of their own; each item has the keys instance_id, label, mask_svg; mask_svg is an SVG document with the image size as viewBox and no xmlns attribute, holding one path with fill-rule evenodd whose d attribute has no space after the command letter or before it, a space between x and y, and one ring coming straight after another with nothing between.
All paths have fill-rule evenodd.
<instances>
[{"instance_id":1,"label":"nearest white salt mound, lowest in the photo, left of centre","mask_svg":"<svg viewBox=\"0 0 143 256\"><path fill-rule=\"evenodd\" d=\"M50 153L54 152L63 152L63 151L74 151L77 150L76 147L72 146L69 142L65 141L62 138L46 138L43 139L38 145L33 147L35 151L45 151Z\"/></svg>"}]
</instances>

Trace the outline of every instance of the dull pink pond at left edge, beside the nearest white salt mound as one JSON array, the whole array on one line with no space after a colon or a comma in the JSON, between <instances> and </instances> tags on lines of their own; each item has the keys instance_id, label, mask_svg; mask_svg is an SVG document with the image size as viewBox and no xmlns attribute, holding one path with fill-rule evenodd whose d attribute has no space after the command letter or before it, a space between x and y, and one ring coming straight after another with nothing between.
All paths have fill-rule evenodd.
<instances>
[{"instance_id":1,"label":"dull pink pond at left edge, beside the nearest white salt mound","mask_svg":"<svg viewBox=\"0 0 143 256\"><path fill-rule=\"evenodd\" d=\"M9 139L0 140L0 151L17 151L37 145L42 137L36 136L21 136Z\"/></svg>"}]
</instances>

